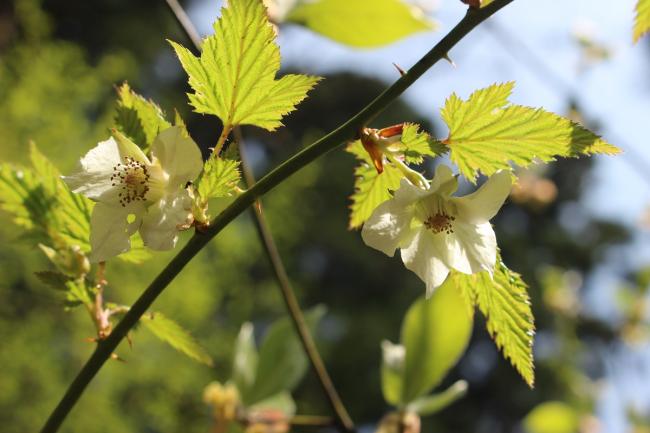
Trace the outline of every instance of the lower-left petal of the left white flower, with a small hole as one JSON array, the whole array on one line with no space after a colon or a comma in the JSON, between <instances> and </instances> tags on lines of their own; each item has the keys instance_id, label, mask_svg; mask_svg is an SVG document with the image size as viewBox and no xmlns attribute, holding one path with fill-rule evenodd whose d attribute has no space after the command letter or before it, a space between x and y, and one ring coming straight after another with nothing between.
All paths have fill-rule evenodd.
<instances>
[{"instance_id":1,"label":"lower-left petal of the left white flower, with a small hole","mask_svg":"<svg viewBox=\"0 0 650 433\"><path fill-rule=\"evenodd\" d=\"M90 218L90 261L103 262L131 248L129 238L138 230L139 214L144 210L140 203L127 207L97 203ZM128 221L129 215L135 220Z\"/></svg>"}]
</instances>

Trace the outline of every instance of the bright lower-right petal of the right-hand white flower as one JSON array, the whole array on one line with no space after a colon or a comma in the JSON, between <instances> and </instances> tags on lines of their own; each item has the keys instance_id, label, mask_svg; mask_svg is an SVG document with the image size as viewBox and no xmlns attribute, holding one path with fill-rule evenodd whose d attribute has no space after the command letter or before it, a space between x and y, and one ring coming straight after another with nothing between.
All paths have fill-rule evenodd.
<instances>
[{"instance_id":1,"label":"bright lower-right petal of the right-hand white flower","mask_svg":"<svg viewBox=\"0 0 650 433\"><path fill-rule=\"evenodd\" d=\"M497 260L497 238L490 223L456 221L454 233L445 236L445 243L449 249L447 264L450 267L464 274L493 272Z\"/></svg>"}]
</instances>

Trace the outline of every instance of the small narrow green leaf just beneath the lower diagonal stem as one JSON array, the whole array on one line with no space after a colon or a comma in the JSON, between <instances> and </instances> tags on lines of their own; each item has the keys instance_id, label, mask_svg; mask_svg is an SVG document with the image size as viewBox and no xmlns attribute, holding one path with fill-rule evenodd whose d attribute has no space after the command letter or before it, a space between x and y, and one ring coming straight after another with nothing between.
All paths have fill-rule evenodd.
<instances>
[{"instance_id":1,"label":"small narrow green leaf just beneath the lower diagonal stem","mask_svg":"<svg viewBox=\"0 0 650 433\"><path fill-rule=\"evenodd\" d=\"M213 361L208 352L178 323L161 313L148 313L140 319L153 335L195 361L212 366Z\"/></svg>"}]
</instances>

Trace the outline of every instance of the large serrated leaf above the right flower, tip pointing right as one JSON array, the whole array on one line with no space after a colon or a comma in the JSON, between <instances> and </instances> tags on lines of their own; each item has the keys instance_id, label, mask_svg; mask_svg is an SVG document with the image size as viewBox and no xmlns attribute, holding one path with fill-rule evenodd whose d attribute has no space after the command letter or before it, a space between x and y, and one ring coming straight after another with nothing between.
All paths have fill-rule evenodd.
<instances>
[{"instance_id":1,"label":"large serrated leaf above the right flower, tip pointing right","mask_svg":"<svg viewBox=\"0 0 650 433\"><path fill-rule=\"evenodd\" d=\"M508 105L513 86L495 84L472 93L467 101L452 94L442 109L449 127L443 142L451 160L471 181L479 173L490 176L510 170L511 163L526 167L535 160L620 152L569 119L541 108Z\"/></svg>"}]
</instances>

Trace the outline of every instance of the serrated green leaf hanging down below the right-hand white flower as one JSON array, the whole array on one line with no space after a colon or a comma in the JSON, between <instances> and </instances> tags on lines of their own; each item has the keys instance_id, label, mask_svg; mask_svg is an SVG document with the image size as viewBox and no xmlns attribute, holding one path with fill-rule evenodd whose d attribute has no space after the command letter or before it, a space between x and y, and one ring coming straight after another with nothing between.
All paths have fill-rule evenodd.
<instances>
[{"instance_id":1,"label":"serrated green leaf hanging down below the right-hand white flower","mask_svg":"<svg viewBox=\"0 0 650 433\"><path fill-rule=\"evenodd\" d=\"M535 382L533 336L535 323L526 283L497 259L494 276L452 274L450 278L487 318L487 329L503 356L529 386Z\"/></svg>"}]
</instances>

